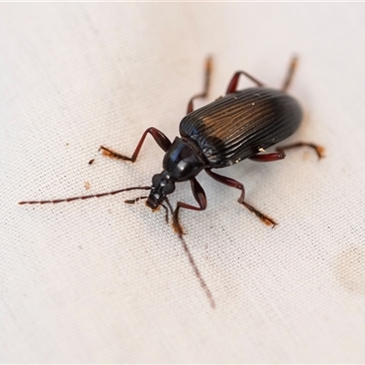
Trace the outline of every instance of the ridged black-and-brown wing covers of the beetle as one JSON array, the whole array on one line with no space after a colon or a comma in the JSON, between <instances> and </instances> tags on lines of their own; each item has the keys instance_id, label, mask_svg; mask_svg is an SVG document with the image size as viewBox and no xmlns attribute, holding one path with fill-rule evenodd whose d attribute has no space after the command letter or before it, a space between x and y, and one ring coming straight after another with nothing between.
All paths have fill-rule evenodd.
<instances>
[{"instance_id":1,"label":"ridged black-and-brown wing covers of the beetle","mask_svg":"<svg viewBox=\"0 0 365 365\"><path fill-rule=\"evenodd\" d=\"M285 92L251 88L188 114L180 133L200 147L210 167L220 168L286 139L301 120L300 106Z\"/></svg>"}]
</instances>

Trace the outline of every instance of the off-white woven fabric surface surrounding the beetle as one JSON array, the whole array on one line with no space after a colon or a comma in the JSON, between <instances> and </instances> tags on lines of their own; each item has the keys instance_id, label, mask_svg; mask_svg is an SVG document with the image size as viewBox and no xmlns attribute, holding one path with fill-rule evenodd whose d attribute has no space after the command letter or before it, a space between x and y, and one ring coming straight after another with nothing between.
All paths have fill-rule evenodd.
<instances>
[{"instance_id":1,"label":"off-white woven fabric surface surrounding the beetle","mask_svg":"<svg viewBox=\"0 0 365 365\"><path fill-rule=\"evenodd\" d=\"M365 362L364 6L1 4L0 361ZM306 118L288 141L327 157L220 171L275 229L199 176L208 208L181 218L215 310L163 213L122 203L138 192L17 204L149 184L151 137L135 164L99 145L173 139L208 54L213 100L237 69L279 87L295 52Z\"/></svg>"}]
</instances>

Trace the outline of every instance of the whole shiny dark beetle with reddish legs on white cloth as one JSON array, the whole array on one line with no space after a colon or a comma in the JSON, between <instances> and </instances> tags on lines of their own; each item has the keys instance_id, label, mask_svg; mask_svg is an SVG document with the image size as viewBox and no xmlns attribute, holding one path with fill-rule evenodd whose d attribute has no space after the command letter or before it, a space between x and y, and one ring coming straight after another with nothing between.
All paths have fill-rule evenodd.
<instances>
[{"instance_id":1,"label":"whole shiny dark beetle with reddish legs on white cloth","mask_svg":"<svg viewBox=\"0 0 365 365\"><path fill-rule=\"evenodd\" d=\"M204 89L201 94L190 99L187 115L180 122L181 137L176 137L171 142L161 130L149 128L144 131L131 157L127 157L100 146L102 154L135 162L141 151L141 146L147 134L151 134L157 144L165 151L162 162L162 172L153 175L151 186L130 187L110 193L99 193L78 196L68 199L49 201L29 201L24 203L61 203L77 199L89 199L130 190L150 190L149 196L141 196L127 200L125 203L136 203L140 199L147 199L146 204L155 211L162 206L172 213L172 227L182 237L183 228L179 223L180 208L203 211L206 208L206 196L195 176L205 170L209 176L219 183L234 187L241 191L238 203L253 212L261 221L268 225L276 225L276 222L262 214L254 206L245 201L245 188L242 183L229 177L222 176L212 169L221 169L245 159L256 162L274 162L286 157L287 149L308 146L314 149L318 158L323 156L323 149L313 143L298 142L276 149L276 152L266 153L265 150L279 141L285 140L294 133L301 120L302 110L293 99L287 95L287 89L292 80L297 66L297 57L293 57L287 72L287 78L282 89L269 89L256 78L245 71L235 72L224 97L218 98L210 104L193 110L193 100L205 98L208 95L210 75L212 70L212 58L208 57L205 63ZM237 90L238 80L241 75L249 78L256 84L255 88ZM92 163L92 162L90 162ZM193 196L198 206L178 202L173 210L167 195L175 190L175 183L190 181ZM163 204L166 202L169 209Z\"/></svg>"}]
</instances>

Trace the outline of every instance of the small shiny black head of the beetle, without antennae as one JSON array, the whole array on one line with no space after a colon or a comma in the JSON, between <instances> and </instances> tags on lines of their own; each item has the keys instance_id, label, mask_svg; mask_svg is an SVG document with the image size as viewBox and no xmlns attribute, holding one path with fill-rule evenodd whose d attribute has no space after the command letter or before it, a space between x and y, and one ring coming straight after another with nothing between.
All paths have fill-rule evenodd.
<instances>
[{"instance_id":1,"label":"small shiny black head of the beetle, without antennae","mask_svg":"<svg viewBox=\"0 0 365 365\"><path fill-rule=\"evenodd\" d=\"M174 190L175 182L167 172L156 173L152 177L151 192L146 205L152 210L157 209L166 199L166 195L173 193Z\"/></svg>"}]
</instances>

